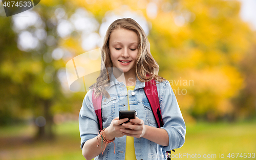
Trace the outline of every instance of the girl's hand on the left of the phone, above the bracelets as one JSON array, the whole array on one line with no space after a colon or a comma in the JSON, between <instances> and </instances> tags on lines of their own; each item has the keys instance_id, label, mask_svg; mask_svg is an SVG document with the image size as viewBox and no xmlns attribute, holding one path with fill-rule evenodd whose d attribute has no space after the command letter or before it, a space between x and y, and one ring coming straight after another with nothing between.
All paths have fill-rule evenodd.
<instances>
[{"instance_id":1,"label":"girl's hand on the left of the phone, above the bracelets","mask_svg":"<svg viewBox=\"0 0 256 160\"><path fill-rule=\"evenodd\" d=\"M120 131L120 129L125 129L124 126L122 126L121 124L123 122L126 122L128 121L129 119L128 118L125 118L125 119L121 119L119 120L119 117L116 117L110 124L109 127L106 127L104 133L105 133L105 137L106 139L108 140L113 140L115 137L119 138L121 136L123 136L124 134L122 134L123 132ZM132 125L134 123L132 122L128 122L126 124L129 124L129 125Z\"/></svg>"}]
</instances>

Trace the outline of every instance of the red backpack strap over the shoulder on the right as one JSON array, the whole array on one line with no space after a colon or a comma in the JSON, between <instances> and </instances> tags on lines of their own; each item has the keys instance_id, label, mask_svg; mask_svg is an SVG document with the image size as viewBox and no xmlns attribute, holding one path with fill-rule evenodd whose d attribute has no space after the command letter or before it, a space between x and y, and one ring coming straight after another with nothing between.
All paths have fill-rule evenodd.
<instances>
[{"instance_id":1,"label":"red backpack strap over the shoulder on the right","mask_svg":"<svg viewBox=\"0 0 256 160\"><path fill-rule=\"evenodd\" d=\"M158 128L160 128L163 126L163 120L157 93L156 81L152 79L151 81L145 82L144 91L148 101L150 102L154 117L157 121Z\"/></svg>"}]
</instances>

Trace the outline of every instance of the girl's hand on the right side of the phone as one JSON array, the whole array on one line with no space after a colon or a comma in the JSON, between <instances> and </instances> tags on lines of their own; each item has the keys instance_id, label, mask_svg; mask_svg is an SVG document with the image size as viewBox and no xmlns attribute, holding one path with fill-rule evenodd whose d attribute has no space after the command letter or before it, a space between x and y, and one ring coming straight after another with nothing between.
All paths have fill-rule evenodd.
<instances>
[{"instance_id":1,"label":"girl's hand on the right side of the phone","mask_svg":"<svg viewBox=\"0 0 256 160\"><path fill-rule=\"evenodd\" d=\"M135 138L141 138L146 132L146 126L144 125L144 121L136 117L136 119L130 120L129 123L123 123L122 126L125 128L120 128L120 131L123 132L123 135L133 136Z\"/></svg>"}]
</instances>

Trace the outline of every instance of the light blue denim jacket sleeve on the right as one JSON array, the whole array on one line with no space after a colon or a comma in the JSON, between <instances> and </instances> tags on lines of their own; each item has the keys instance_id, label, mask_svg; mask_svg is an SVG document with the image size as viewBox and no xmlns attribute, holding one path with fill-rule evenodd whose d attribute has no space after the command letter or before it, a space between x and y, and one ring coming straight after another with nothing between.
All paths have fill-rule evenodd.
<instances>
[{"instance_id":1,"label":"light blue denim jacket sleeve on the right","mask_svg":"<svg viewBox=\"0 0 256 160\"><path fill-rule=\"evenodd\" d=\"M162 113L163 127L169 136L168 146L161 146L163 150L169 151L180 148L185 142L186 126L183 120L180 107L174 95L169 81L160 83L159 102Z\"/></svg>"}]
</instances>

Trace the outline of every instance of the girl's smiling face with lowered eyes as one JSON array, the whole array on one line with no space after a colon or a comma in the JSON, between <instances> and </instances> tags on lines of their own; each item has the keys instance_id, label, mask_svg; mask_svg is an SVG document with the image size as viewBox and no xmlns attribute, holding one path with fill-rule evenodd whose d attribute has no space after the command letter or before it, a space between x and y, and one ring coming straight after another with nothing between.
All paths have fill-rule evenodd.
<instances>
[{"instance_id":1,"label":"girl's smiling face with lowered eyes","mask_svg":"<svg viewBox=\"0 0 256 160\"><path fill-rule=\"evenodd\" d=\"M135 61L138 54L138 36L126 29L114 30L109 39L109 48L113 67L123 70L123 73L135 73Z\"/></svg>"}]
</instances>

